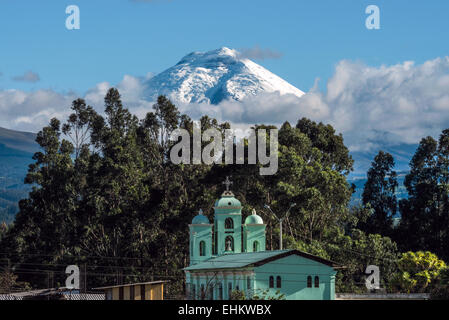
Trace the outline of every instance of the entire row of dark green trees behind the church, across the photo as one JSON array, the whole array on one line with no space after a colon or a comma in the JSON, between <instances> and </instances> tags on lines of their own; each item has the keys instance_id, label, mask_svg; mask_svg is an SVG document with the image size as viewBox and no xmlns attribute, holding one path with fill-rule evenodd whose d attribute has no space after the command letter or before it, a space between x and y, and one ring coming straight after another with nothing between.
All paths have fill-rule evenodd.
<instances>
[{"instance_id":1,"label":"entire row of dark green trees behind the church, across the photo","mask_svg":"<svg viewBox=\"0 0 449 320\"><path fill-rule=\"evenodd\" d=\"M405 244L398 234L416 228L439 232L413 234L413 245L432 247L447 239L442 226L447 223L449 132L439 142L421 142L406 179L411 196L401 202L403 223L394 230L393 157L377 155L368 172L364 205L350 208L353 190L347 176L353 160L330 125L305 118L296 126L285 122L278 132L278 171L263 176L260 163L248 164L246 140L244 164L172 163L170 151L177 141L170 134L187 130L193 147L196 124L164 96L143 119L123 105L114 88L105 96L103 114L83 99L73 101L72 111L65 122L52 119L38 133L41 150L26 177L31 192L19 202L14 224L0 228L3 261L8 259L19 281L34 287L61 284L66 276L61 266L77 264L90 287L157 278L171 280L171 294L181 293L182 268L188 264L187 226L200 208L213 214L226 176L232 176L243 213L256 209L267 223L268 250L278 248L279 225L264 205L283 216L296 203L284 222L285 242L344 265L337 276L339 291L361 290L369 264L380 267L383 284L392 281L399 250L386 237L390 233L401 249ZM197 124L203 132L214 128L223 136L231 128L208 116ZM202 147L207 143L201 141ZM427 222L416 226L423 217Z\"/></svg>"}]
</instances>

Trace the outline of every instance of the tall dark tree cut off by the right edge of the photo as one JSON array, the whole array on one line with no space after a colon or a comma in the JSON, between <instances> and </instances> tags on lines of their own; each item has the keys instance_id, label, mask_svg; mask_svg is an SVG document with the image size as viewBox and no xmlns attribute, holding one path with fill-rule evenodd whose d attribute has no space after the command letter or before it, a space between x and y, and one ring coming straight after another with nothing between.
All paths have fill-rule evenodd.
<instances>
[{"instance_id":1,"label":"tall dark tree cut off by the right edge of the photo","mask_svg":"<svg viewBox=\"0 0 449 320\"><path fill-rule=\"evenodd\" d=\"M438 141L423 138L410 162L405 186L409 198L401 200L398 242L406 250L430 250L449 258L449 130Z\"/></svg>"}]
</instances>

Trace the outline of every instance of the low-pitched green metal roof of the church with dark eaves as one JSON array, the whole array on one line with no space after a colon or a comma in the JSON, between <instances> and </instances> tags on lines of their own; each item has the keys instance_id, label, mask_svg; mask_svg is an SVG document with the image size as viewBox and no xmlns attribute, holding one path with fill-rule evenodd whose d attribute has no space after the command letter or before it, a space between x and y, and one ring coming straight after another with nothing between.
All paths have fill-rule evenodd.
<instances>
[{"instance_id":1,"label":"low-pitched green metal roof of the church with dark eaves","mask_svg":"<svg viewBox=\"0 0 449 320\"><path fill-rule=\"evenodd\" d=\"M337 264L317 257L311 254L298 251L298 250L275 250L275 251L258 251L258 252L245 252L245 253L234 253L234 254L224 254L215 258L211 258L207 261L200 262L193 266L184 268L185 271L194 270L206 270L206 269L235 269L243 268L251 265L262 265L273 260L277 260L292 254L302 256L307 259L311 259L330 267L336 267Z\"/></svg>"}]
</instances>

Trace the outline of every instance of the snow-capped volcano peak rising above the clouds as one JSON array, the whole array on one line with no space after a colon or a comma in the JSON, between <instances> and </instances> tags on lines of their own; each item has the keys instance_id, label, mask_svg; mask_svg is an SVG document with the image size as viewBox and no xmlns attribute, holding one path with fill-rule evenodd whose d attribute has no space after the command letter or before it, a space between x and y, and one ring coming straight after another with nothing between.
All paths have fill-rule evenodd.
<instances>
[{"instance_id":1,"label":"snow-capped volcano peak rising above the clouds","mask_svg":"<svg viewBox=\"0 0 449 320\"><path fill-rule=\"evenodd\" d=\"M225 99L242 100L261 92L279 92L298 97L304 92L226 47L192 52L175 66L145 83L145 96L158 95L182 103L218 104Z\"/></svg>"}]
</instances>

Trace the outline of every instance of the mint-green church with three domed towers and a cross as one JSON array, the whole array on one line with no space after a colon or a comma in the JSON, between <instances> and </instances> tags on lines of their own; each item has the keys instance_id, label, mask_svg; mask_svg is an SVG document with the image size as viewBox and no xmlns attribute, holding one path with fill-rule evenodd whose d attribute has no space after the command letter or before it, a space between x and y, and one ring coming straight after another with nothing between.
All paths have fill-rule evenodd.
<instances>
[{"instance_id":1,"label":"mint-green church with three domed towers and a cross","mask_svg":"<svg viewBox=\"0 0 449 320\"><path fill-rule=\"evenodd\" d=\"M184 268L191 300L227 300L233 291L287 300L334 300L337 265L298 251L265 249L262 218L227 190L215 202L214 221L200 210L189 225L190 265Z\"/></svg>"}]
</instances>

